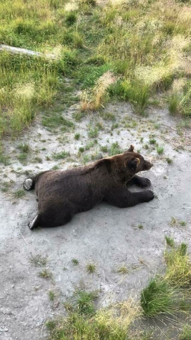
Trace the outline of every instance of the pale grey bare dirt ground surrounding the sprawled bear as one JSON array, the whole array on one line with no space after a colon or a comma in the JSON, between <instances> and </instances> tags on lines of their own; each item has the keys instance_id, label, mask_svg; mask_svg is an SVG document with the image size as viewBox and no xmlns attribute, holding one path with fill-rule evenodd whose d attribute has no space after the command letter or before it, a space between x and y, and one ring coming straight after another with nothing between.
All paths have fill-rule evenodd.
<instances>
[{"instance_id":1,"label":"pale grey bare dirt ground surrounding the sprawled bear","mask_svg":"<svg viewBox=\"0 0 191 340\"><path fill-rule=\"evenodd\" d=\"M63 116L73 120L76 109L73 105ZM182 128L181 134L177 134L179 119L170 117L166 109L150 108L146 118L135 115L128 104L112 104L105 111L115 114L118 128L111 130L112 121L94 115L75 122L73 131L49 132L41 125L39 116L18 140L5 141L11 164L1 164L0 186L2 188L5 182L12 184L9 191L0 191L2 340L44 339L47 335L45 321L57 314L65 315L63 302L82 285L89 290L100 290L98 308L128 296L138 297L149 277L163 267L164 235L191 245L190 131ZM36 173L57 164L62 169L81 164L78 149L89 143L87 124L93 126L96 120L103 124L104 130L98 132L98 144L84 154L99 154L100 146L109 147L116 141L122 149L133 143L135 150L154 162L154 167L141 175L152 181L155 199L125 209L101 204L76 215L65 226L30 231L28 222L37 211L35 194L26 192L25 197L15 199L11 191L22 188L26 170ZM129 128L124 121L130 124ZM136 124L132 125L132 121ZM81 135L77 141L74 139L76 132ZM153 133L158 144L164 147L161 155L149 143ZM17 159L20 142L28 142L32 149L27 165ZM149 149L143 147L145 144ZM46 159L53 152L63 150L69 151L70 157ZM42 163L33 163L35 156L40 157ZM173 163L168 164L167 157ZM174 226L170 223L172 217L177 219ZM180 226L178 221L186 221L186 225ZM143 228L139 228L139 224ZM38 255L47 258L46 268L52 273L52 279L39 276L43 267L36 267L38 263L33 261ZM73 258L79 260L79 265L73 265ZM89 262L96 264L92 275L86 271ZM128 267L128 273L118 272L122 265ZM49 299L50 290L56 294L53 302Z\"/></svg>"}]
</instances>

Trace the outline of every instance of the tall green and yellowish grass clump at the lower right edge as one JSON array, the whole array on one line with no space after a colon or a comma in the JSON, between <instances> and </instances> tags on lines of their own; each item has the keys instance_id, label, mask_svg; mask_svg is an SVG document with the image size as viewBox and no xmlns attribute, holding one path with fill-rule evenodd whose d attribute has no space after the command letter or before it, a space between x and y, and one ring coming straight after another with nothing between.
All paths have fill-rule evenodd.
<instances>
[{"instance_id":1,"label":"tall green and yellowish grass clump at the lower right edge","mask_svg":"<svg viewBox=\"0 0 191 340\"><path fill-rule=\"evenodd\" d=\"M162 277L152 278L141 292L141 307L147 317L173 316L181 312L183 305L190 304L191 263L188 246L186 243L176 245L170 237L166 237L166 242L170 247L164 252L166 272Z\"/></svg>"}]
</instances>

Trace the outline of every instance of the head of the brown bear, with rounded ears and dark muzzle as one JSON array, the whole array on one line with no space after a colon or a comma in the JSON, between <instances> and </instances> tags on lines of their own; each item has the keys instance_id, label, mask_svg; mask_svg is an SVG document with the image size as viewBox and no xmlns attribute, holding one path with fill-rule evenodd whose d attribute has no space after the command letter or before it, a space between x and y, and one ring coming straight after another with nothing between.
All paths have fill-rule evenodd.
<instances>
[{"instance_id":1,"label":"head of the brown bear, with rounded ears and dark muzzle","mask_svg":"<svg viewBox=\"0 0 191 340\"><path fill-rule=\"evenodd\" d=\"M135 174L140 171L150 170L153 166L153 163L145 160L143 156L141 156L139 153L134 152L133 145L131 145L124 154L128 172L132 172Z\"/></svg>"}]
</instances>

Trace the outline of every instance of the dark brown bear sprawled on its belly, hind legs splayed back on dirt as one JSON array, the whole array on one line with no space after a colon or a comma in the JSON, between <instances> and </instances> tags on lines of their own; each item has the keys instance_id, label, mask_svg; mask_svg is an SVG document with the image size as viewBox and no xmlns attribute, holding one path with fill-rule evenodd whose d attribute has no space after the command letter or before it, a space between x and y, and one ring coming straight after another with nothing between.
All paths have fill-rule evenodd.
<instances>
[{"instance_id":1,"label":"dark brown bear sprawled on its belly, hind legs splayed back on dirt","mask_svg":"<svg viewBox=\"0 0 191 340\"><path fill-rule=\"evenodd\" d=\"M128 185L150 186L150 180L136 175L149 170L152 163L134 152L99 159L84 167L64 171L48 170L24 181L25 190L35 188L38 214L29 228L55 227L71 220L74 214L92 209L102 201L126 208L154 198L151 189L131 192Z\"/></svg>"}]
</instances>

